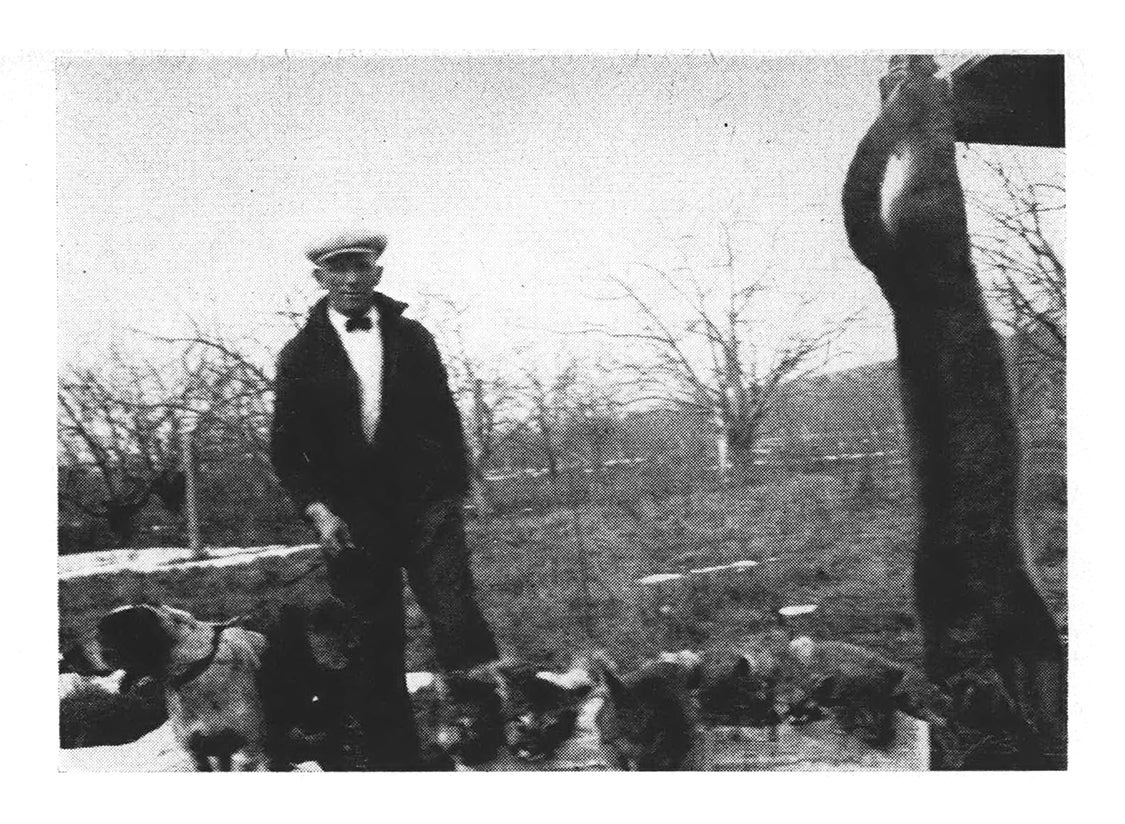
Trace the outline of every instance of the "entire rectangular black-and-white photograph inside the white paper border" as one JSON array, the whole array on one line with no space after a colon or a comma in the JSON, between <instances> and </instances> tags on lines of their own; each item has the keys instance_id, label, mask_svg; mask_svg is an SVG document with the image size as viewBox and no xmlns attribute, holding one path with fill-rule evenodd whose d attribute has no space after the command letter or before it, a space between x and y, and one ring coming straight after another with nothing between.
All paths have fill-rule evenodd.
<instances>
[{"instance_id":1,"label":"entire rectangular black-and-white photograph inside the white paper border","mask_svg":"<svg viewBox=\"0 0 1125 824\"><path fill-rule=\"evenodd\" d=\"M57 771L1066 770L1070 68L53 57Z\"/></svg>"}]
</instances>

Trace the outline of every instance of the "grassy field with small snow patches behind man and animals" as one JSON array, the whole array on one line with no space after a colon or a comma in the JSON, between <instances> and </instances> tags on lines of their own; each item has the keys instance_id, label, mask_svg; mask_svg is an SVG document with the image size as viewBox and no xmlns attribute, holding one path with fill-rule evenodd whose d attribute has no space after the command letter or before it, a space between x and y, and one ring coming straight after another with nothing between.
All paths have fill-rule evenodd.
<instances>
[{"instance_id":1,"label":"grassy field with small snow patches behind man and animals","mask_svg":"<svg viewBox=\"0 0 1125 824\"><path fill-rule=\"evenodd\" d=\"M1065 627L1065 513L1033 509L1026 520ZM659 650L720 646L771 625L774 610L793 603L820 606L799 619L802 632L917 663L914 530L904 469L883 467L663 499L606 486L580 505L474 520L469 540L482 606L502 646L543 664L566 665L591 646L626 664ZM740 559L760 565L660 588L637 583ZM106 609L142 600L264 626L280 603L326 594L321 573L284 585L315 561L309 552L249 566L60 581L60 643ZM429 633L413 601L407 621L410 668L429 669Z\"/></svg>"}]
</instances>

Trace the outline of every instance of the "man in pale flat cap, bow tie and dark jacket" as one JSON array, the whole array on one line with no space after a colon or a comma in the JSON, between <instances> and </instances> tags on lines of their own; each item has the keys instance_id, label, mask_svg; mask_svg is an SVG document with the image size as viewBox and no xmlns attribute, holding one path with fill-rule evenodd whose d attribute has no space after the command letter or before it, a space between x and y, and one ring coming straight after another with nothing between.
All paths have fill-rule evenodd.
<instances>
[{"instance_id":1,"label":"man in pale flat cap, bow tie and dark jacket","mask_svg":"<svg viewBox=\"0 0 1125 824\"><path fill-rule=\"evenodd\" d=\"M404 678L404 568L442 668L496 657L465 540L460 415L433 337L375 290L386 247L382 235L356 233L307 251L327 295L278 358L270 445L354 624L348 709L377 770L420 765Z\"/></svg>"}]
</instances>

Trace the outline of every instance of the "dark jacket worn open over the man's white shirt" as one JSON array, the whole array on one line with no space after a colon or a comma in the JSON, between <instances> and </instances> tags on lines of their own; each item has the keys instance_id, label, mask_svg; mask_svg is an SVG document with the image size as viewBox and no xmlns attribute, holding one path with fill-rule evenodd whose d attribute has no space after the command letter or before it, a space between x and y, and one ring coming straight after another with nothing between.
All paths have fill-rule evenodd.
<instances>
[{"instance_id":1,"label":"dark jacket worn open over the man's white shirt","mask_svg":"<svg viewBox=\"0 0 1125 824\"><path fill-rule=\"evenodd\" d=\"M433 335L403 316L406 304L375 295L382 335L382 404L375 438L363 437L360 384L318 302L278 357L270 448L298 509L322 501L354 530L372 513L417 518L462 496L469 469L461 418Z\"/></svg>"}]
</instances>

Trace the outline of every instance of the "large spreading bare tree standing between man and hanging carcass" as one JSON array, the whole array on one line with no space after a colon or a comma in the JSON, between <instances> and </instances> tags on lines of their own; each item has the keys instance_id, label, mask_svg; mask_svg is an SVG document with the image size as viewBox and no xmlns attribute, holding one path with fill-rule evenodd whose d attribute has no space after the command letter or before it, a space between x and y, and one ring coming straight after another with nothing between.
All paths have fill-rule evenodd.
<instances>
[{"instance_id":1,"label":"large spreading bare tree standing between man and hanging carcass","mask_svg":"<svg viewBox=\"0 0 1125 824\"><path fill-rule=\"evenodd\" d=\"M748 272L736 253L731 225L721 224L721 229L720 258L705 267L702 277L691 266L672 270L641 266L667 302L646 297L630 279L612 277L621 297L633 306L639 329L601 331L638 341L651 356L624 367L639 389L638 400L670 401L713 415L720 468L726 474L729 460L736 477L745 478L753 471L758 433L783 384L822 366L830 344L850 319L819 332L762 341L756 334L755 308L772 288L768 268ZM810 299L799 303L801 308L811 305ZM684 310L686 319L677 320L676 312Z\"/></svg>"}]
</instances>

